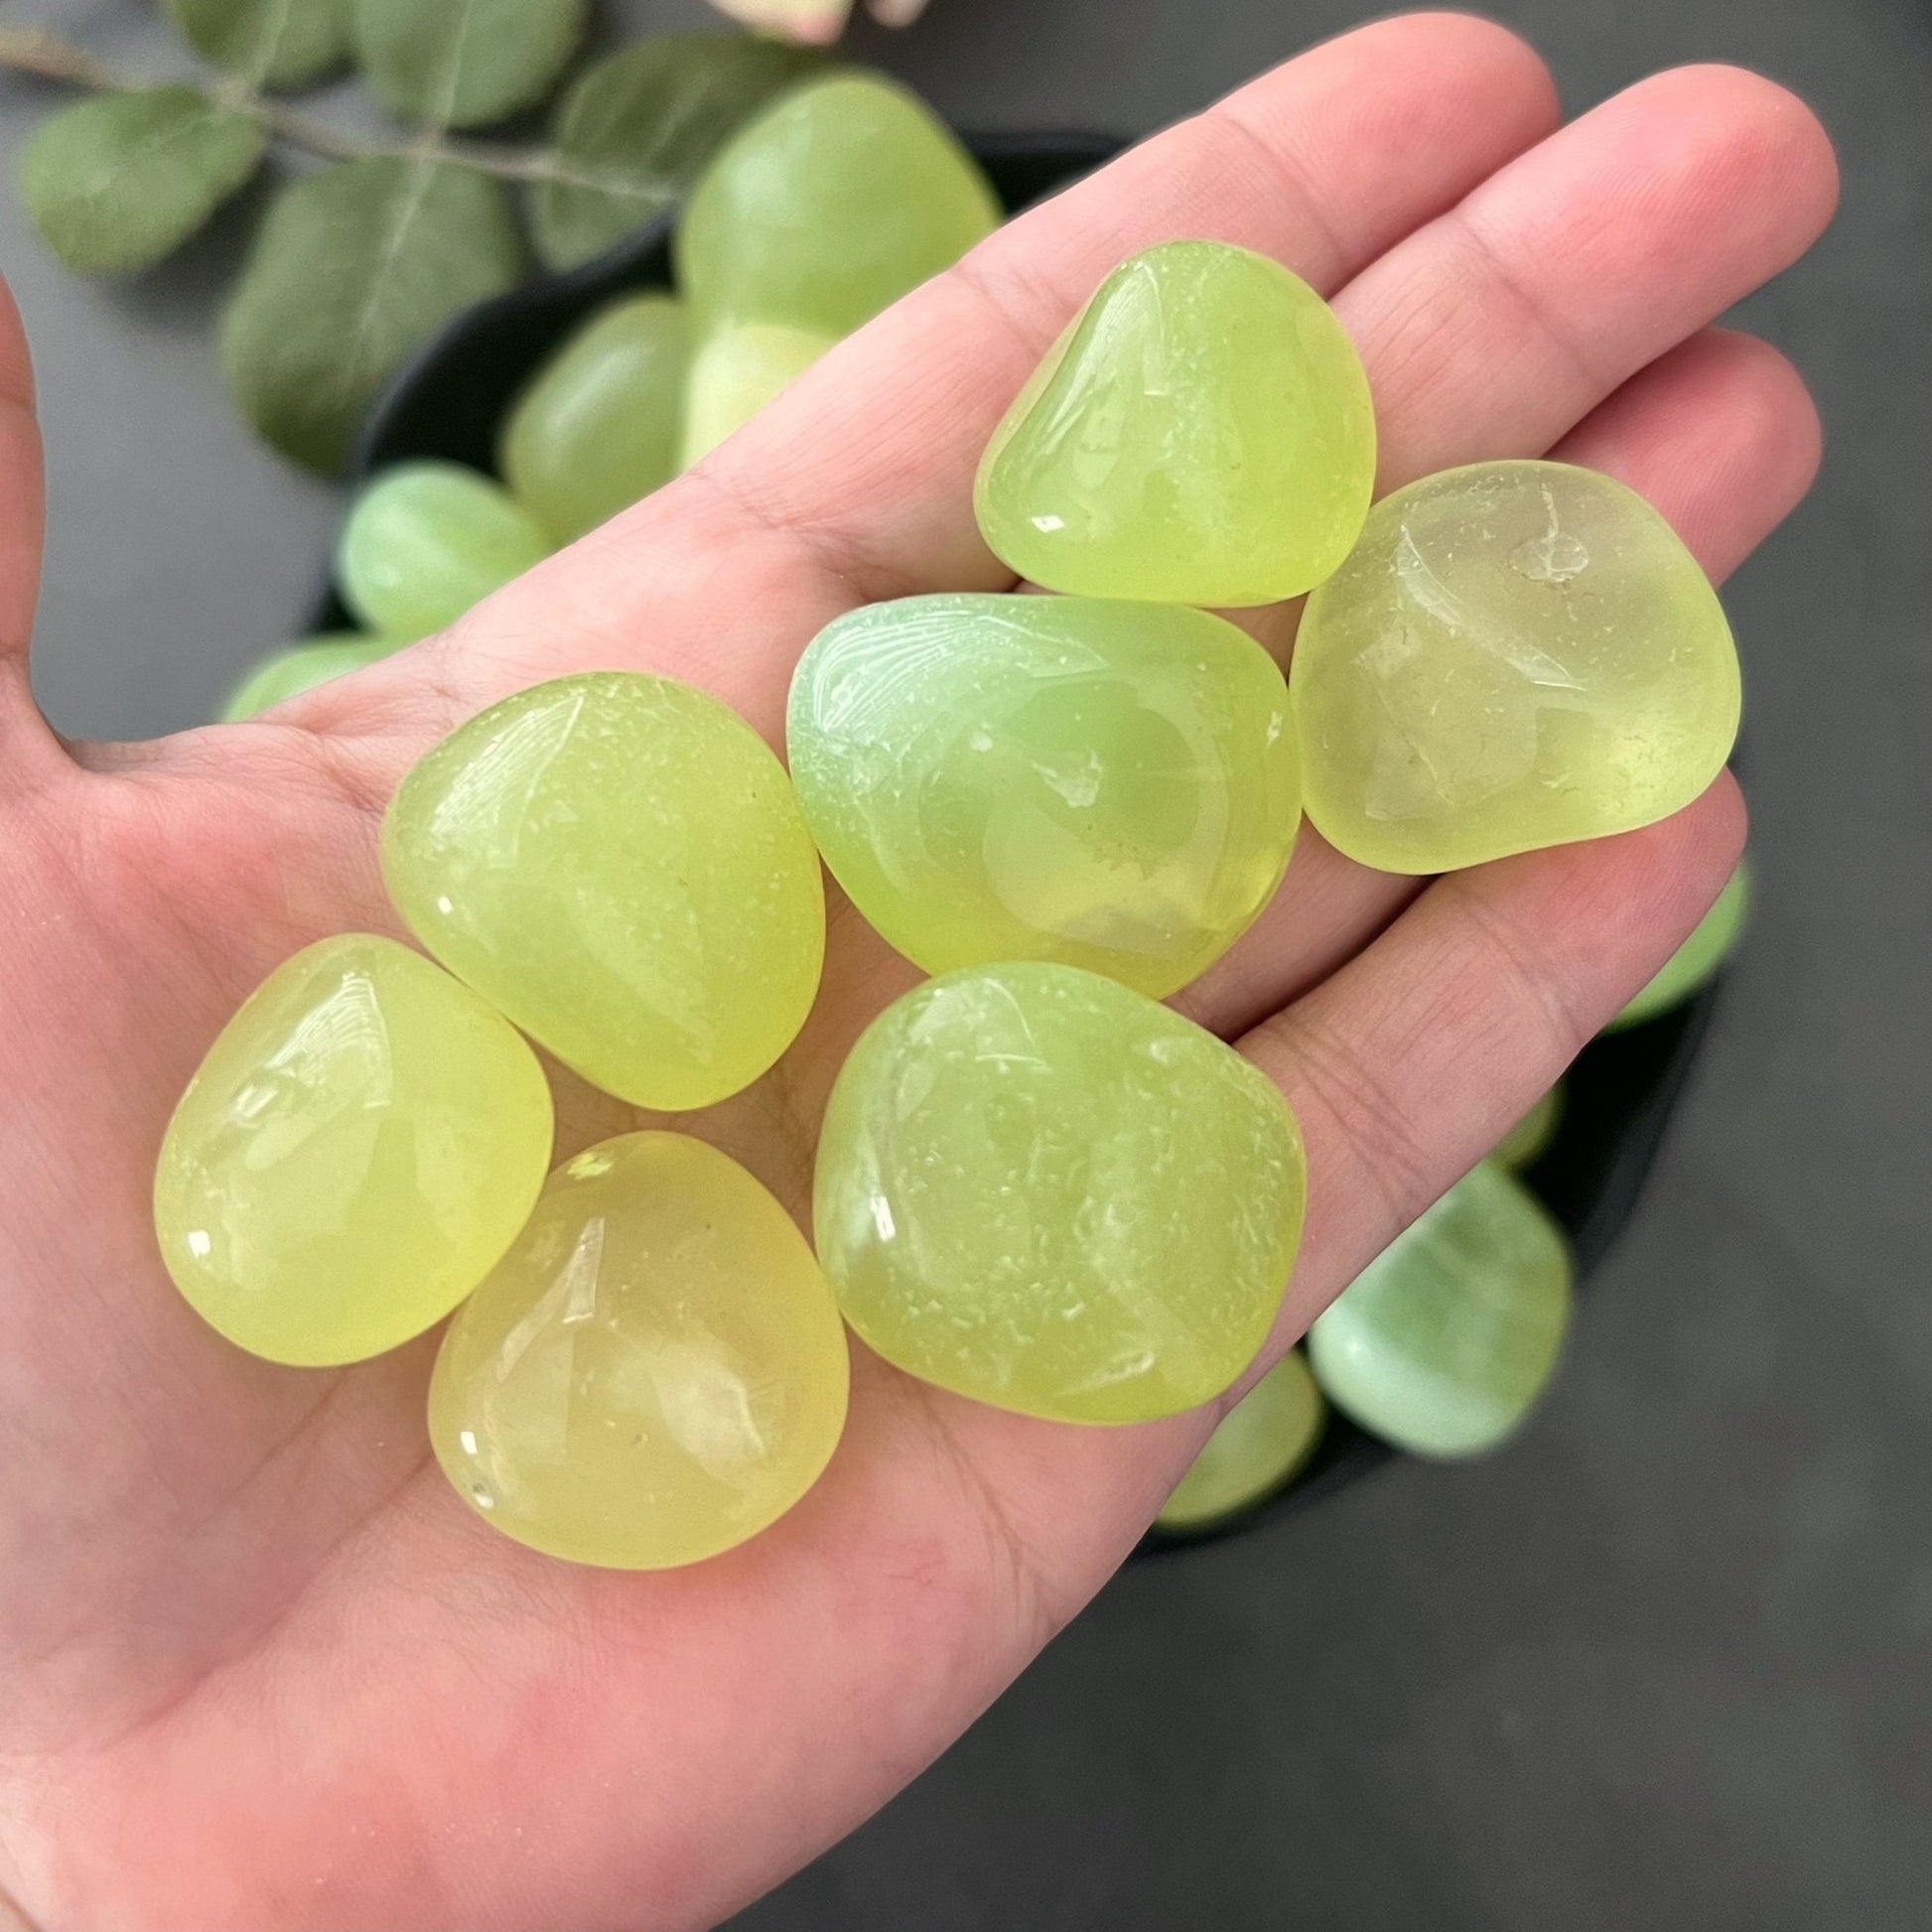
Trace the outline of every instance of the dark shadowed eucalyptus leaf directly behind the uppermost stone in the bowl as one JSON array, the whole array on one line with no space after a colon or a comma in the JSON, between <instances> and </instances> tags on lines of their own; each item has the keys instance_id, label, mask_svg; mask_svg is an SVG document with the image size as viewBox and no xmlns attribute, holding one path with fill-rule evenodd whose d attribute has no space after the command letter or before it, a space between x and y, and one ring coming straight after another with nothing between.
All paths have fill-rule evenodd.
<instances>
[{"instance_id":1,"label":"dark shadowed eucalyptus leaf directly behind the uppermost stone in the bowl","mask_svg":"<svg viewBox=\"0 0 1932 1932\"><path fill-rule=\"evenodd\" d=\"M585 68L551 129L560 168L578 180L537 184L529 209L537 253L553 269L572 269L622 242L670 207L724 139L817 58L744 33L659 33Z\"/></svg>"}]
</instances>

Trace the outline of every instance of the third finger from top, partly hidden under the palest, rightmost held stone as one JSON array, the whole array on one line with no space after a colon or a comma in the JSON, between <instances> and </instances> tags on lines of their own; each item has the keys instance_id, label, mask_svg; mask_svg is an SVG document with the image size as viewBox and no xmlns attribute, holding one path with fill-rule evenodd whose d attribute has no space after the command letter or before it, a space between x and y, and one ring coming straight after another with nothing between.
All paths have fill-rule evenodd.
<instances>
[{"instance_id":1,"label":"third finger from top, partly hidden under the palest, rightmost held stone","mask_svg":"<svg viewBox=\"0 0 1932 1932\"><path fill-rule=\"evenodd\" d=\"M1710 328L1652 363L1553 450L1629 483L1721 583L1799 504L1818 469L1818 412L1766 342ZM1354 956L1420 881L1341 858L1310 825L1269 908L1177 1003L1221 1034Z\"/></svg>"}]
</instances>

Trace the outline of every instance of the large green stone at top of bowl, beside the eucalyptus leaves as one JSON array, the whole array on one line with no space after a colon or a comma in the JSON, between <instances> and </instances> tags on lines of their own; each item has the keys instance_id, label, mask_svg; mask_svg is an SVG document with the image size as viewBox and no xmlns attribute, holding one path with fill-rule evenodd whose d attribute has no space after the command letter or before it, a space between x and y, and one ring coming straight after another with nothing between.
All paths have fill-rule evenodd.
<instances>
[{"instance_id":1,"label":"large green stone at top of bowl, beside the eucalyptus leaves","mask_svg":"<svg viewBox=\"0 0 1932 1932\"><path fill-rule=\"evenodd\" d=\"M781 95L711 158L676 236L709 330L788 323L846 336L999 226L978 162L883 73Z\"/></svg>"}]
</instances>

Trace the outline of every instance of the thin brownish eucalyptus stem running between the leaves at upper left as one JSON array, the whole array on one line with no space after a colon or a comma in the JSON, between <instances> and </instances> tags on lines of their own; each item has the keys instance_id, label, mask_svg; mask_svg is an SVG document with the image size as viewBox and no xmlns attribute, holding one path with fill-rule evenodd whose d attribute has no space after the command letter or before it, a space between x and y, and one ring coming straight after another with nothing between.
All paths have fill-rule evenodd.
<instances>
[{"instance_id":1,"label":"thin brownish eucalyptus stem running between the leaves at upper left","mask_svg":"<svg viewBox=\"0 0 1932 1932\"><path fill-rule=\"evenodd\" d=\"M261 89L240 79L201 79L199 75L135 73L100 60L85 46L60 39L44 27L0 27L0 70L35 73L70 87L95 93L131 93L158 87L164 81L193 87L213 106L247 114L286 147L325 160L440 160L500 182L558 182L566 187L595 187L620 195L670 197L672 184L659 176L634 174L622 168L576 168L547 147L508 147L500 141L456 141L446 133L425 131L408 141L384 141L381 135L361 135L350 128L274 100Z\"/></svg>"}]
</instances>

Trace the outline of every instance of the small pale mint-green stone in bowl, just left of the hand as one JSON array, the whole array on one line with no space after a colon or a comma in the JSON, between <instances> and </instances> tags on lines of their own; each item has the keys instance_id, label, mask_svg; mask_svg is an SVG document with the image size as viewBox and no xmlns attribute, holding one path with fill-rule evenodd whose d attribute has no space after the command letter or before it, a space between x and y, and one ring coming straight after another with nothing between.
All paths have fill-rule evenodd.
<instances>
[{"instance_id":1,"label":"small pale mint-green stone in bowl, just left of the hand","mask_svg":"<svg viewBox=\"0 0 1932 1932\"><path fill-rule=\"evenodd\" d=\"M462 464L396 464L350 506L336 587L371 630L408 641L454 624L551 551L537 520Z\"/></svg>"}]
</instances>

